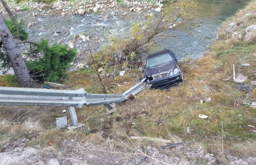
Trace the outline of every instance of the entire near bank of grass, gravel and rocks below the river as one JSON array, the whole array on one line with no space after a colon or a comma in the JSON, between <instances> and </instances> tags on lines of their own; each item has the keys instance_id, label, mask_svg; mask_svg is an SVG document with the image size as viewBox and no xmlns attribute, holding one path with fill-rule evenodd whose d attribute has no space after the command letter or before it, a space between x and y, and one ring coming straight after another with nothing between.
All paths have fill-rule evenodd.
<instances>
[{"instance_id":1,"label":"entire near bank of grass, gravel and rocks below the river","mask_svg":"<svg viewBox=\"0 0 256 165\"><path fill-rule=\"evenodd\" d=\"M79 122L86 124L86 133L55 128L55 118L68 115L62 112L63 107L0 106L0 151L15 153L15 145L34 147L40 150L38 159L44 162L53 156L65 161L65 157L75 159L76 154L89 150L106 164L129 164L145 155L149 157L147 163L152 164L256 164L256 109L243 105L256 102L256 2L248 3L223 22L217 34L218 39L203 57L179 64L185 81L177 87L143 90L134 99L117 104L113 115L106 115L104 106L76 109ZM248 77L243 83L233 81L233 64L237 75ZM123 93L143 75L131 69L123 76L105 76L103 89L96 73L94 68L86 67L69 71L65 85L85 88L88 93ZM13 76L1 75L0 85L15 86ZM131 136L189 143L161 150L162 143L147 138L131 140ZM25 142L21 142L23 139ZM49 146L50 141L54 144ZM115 156L104 156L102 150ZM74 157L68 155L71 152L76 153ZM127 156L127 162L117 153L134 155Z\"/></svg>"}]
</instances>

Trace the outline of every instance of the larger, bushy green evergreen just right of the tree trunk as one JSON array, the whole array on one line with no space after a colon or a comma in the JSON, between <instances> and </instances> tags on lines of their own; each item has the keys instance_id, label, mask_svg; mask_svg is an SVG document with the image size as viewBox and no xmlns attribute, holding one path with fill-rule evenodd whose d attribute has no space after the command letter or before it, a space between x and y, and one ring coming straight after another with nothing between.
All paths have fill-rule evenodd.
<instances>
[{"instance_id":1,"label":"larger, bushy green evergreen just right of the tree trunk","mask_svg":"<svg viewBox=\"0 0 256 165\"><path fill-rule=\"evenodd\" d=\"M50 47L47 40L42 40L38 45L33 53L42 52L44 56L37 61L26 62L30 74L40 72L47 81L62 82L66 77L66 71L70 69L70 62L76 56L76 49L68 49L68 46L57 43Z\"/></svg>"}]
</instances>

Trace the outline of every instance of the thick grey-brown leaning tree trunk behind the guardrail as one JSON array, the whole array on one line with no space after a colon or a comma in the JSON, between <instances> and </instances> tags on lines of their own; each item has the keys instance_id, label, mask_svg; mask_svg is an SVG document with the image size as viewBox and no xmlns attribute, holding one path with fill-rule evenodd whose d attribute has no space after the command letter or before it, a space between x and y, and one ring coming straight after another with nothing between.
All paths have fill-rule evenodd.
<instances>
[{"instance_id":1,"label":"thick grey-brown leaning tree trunk behind the guardrail","mask_svg":"<svg viewBox=\"0 0 256 165\"><path fill-rule=\"evenodd\" d=\"M15 76L18 81L18 85L20 87L31 87L33 83L31 78L29 77L29 72L26 67L26 64L1 14L0 14L0 43L3 44L3 48L5 49L11 61L11 66L13 67Z\"/></svg>"}]
</instances>

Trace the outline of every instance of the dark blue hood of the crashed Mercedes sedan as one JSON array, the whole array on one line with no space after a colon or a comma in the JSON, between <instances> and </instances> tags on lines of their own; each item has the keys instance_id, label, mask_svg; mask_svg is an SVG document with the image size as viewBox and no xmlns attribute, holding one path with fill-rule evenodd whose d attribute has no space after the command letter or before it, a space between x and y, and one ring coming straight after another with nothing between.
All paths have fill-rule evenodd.
<instances>
[{"instance_id":1,"label":"dark blue hood of the crashed Mercedes sedan","mask_svg":"<svg viewBox=\"0 0 256 165\"><path fill-rule=\"evenodd\" d=\"M151 75L159 74L159 70L160 70L160 73L162 73L165 71L173 70L174 68L175 68L175 61L170 61L157 66L146 67L146 76L150 77Z\"/></svg>"}]
</instances>

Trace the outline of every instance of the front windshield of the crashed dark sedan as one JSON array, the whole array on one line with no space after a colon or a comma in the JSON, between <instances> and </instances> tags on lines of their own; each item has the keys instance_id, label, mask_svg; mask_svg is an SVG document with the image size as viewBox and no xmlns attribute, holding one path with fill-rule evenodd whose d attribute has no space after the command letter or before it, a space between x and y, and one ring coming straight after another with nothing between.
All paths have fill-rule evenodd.
<instances>
[{"instance_id":1,"label":"front windshield of the crashed dark sedan","mask_svg":"<svg viewBox=\"0 0 256 165\"><path fill-rule=\"evenodd\" d=\"M170 62L172 60L173 59L172 59L172 57L170 56L169 53L160 54L158 56L148 58L146 67L152 67L152 66L160 65L160 64L163 64L163 63L166 63L166 62Z\"/></svg>"}]
</instances>

